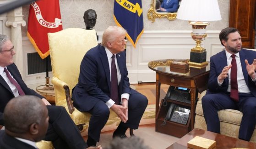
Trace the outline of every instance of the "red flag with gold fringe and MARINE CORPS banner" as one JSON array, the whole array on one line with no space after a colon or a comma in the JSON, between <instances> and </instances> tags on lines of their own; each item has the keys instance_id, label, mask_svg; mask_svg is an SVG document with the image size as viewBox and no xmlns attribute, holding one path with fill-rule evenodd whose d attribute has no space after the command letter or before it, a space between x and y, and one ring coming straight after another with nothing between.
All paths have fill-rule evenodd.
<instances>
[{"instance_id":1,"label":"red flag with gold fringe and MARINE CORPS banner","mask_svg":"<svg viewBox=\"0 0 256 149\"><path fill-rule=\"evenodd\" d=\"M62 30L59 0L37 0L29 8L27 36L39 56L49 56L47 33Z\"/></svg>"}]
</instances>

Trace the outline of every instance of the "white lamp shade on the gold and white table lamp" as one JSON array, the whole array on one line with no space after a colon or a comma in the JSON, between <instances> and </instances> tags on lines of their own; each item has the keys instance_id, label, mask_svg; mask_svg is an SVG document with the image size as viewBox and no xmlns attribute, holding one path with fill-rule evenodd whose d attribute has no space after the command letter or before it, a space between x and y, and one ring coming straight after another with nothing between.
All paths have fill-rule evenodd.
<instances>
[{"instance_id":1,"label":"white lamp shade on the gold and white table lamp","mask_svg":"<svg viewBox=\"0 0 256 149\"><path fill-rule=\"evenodd\" d=\"M221 20L218 0L181 0L176 18L187 21Z\"/></svg>"}]
</instances>

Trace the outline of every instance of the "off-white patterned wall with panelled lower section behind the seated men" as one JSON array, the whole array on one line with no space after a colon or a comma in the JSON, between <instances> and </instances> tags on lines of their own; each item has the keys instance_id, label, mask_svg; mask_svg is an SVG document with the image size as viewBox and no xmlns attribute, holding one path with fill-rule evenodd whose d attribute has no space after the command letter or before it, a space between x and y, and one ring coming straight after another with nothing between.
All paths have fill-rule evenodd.
<instances>
[{"instance_id":1,"label":"off-white patterned wall with panelled lower section behind the seated men","mask_svg":"<svg viewBox=\"0 0 256 149\"><path fill-rule=\"evenodd\" d=\"M218 40L218 33L228 26L229 22L229 0L218 0L222 20L211 22L207 26L207 38L202 46L207 49L207 60L209 57L221 51L223 48ZM127 68L131 83L153 82L155 72L147 67L147 63L157 59L167 58L189 58L190 49L195 46L191 39L191 26L187 21L169 21L166 18L156 19L154 23L147 19L147 11L151 0L142 0L144 33L138 41L136 48L127 44ZM101 38L103 31L114 24L113 9L114 0L60 0L60 10L63 28L78 27L85 28L83 14L87 9L97 12L97 23L95 29ZM23 19L27 22L29 5L22 7ZM203 13L203 12L202 12ZM0 15L0 33L10 34L10 29L5 27ZM7 29L6 29L7 28ZM6 30L6 31L5 31ZM38 84L45 83L45 73L27 75L26 55L35 52L33 46L27 39L27 26L22 27L22 49L24 59L23 79L29 87L35 88ZM51 77L51 73L49 74Z\"/></svg>"}]
</instances>

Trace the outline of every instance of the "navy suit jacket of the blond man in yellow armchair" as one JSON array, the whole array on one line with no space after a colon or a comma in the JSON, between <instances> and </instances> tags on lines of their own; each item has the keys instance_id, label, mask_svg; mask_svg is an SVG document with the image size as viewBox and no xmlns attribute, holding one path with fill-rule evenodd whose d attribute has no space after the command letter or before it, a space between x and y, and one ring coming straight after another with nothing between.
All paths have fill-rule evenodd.
<instances>
[{"instance_id":1,"label":"navy suit jacket of the blond man in yellow armchair","mask_svg":"<svg viewBox=\"0 0 256 149\"><path fill-rule=\"evenodd\" d=\"M119 99L122 93L131 93L125 51L116 54L121 80L118 86ZM87 51L82 59L78 83L72 92L74 106L79 111L88 111L98 102L110 99L109 61L103 46Z\"/></svg>"}]
</instances>

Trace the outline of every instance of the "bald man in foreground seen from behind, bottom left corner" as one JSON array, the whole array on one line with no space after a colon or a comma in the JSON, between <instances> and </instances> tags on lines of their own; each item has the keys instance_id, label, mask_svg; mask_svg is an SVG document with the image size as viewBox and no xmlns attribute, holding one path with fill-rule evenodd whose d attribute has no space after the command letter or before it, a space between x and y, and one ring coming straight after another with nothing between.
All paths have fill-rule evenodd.
<instances>
[{"instance_id":1,"label":"bald man in foreground seen from behind, bottom left corner","mask_svg":"<svg viewBox=\"0 0 256 149\"><path fill-rule=\"evenodd\" d=\"M26 107L26 108L24 108ZM13 98L4 110L5 130L0 131L0 149L37 149L48 128L48 110L36 96Z\"/></svg>"}]
</instances>

